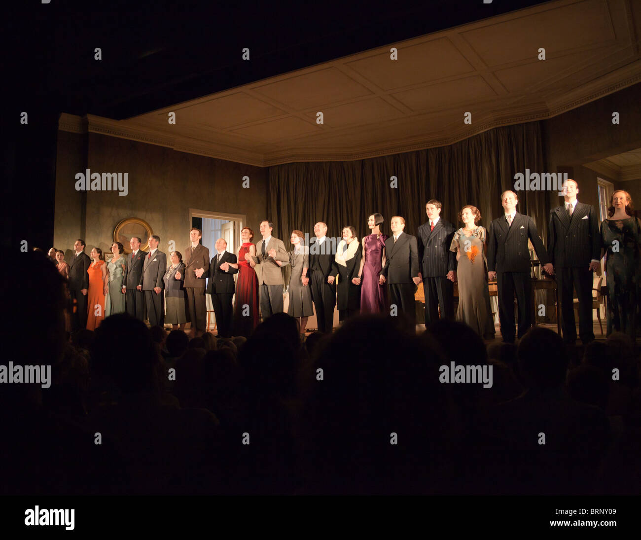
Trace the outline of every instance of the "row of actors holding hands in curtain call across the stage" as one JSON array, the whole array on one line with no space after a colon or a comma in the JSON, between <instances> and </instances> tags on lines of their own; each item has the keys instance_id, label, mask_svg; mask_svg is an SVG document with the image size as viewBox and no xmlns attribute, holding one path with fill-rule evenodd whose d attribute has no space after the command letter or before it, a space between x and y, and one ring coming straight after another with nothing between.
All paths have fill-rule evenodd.
<instances>
[{"instance_id":1,"label":"row of actors holding hands in curtain call across the stage","mask_svg":"<svg viewBox=\"0 0 641 540\"><path fill-rule=\"evenodd\" d=\"M627 192L613 194L609 210L612 219L605 220L599 232L595 209L579 203L578 192L578 183L568 180L565 203L553 208L549 215L547 250L534 221L516 211L518 199L511 190L501 194L504 214L492 221L489 231L478 224L481 219L478 208L472 205L462 208L458 219L463 226L457 230L440 217L441 203L431 199L426 204L428 221L419 226L416 236L404 232L404 218L395 215L390 219L392 235L388 237L381 233L383 216L374 213L368 220L369 235L360 240L354 227L347 226L342 230L342 240L335 245L326 237L327 225L319 222L314 226L315 239L310 246L304 246L303 232L294 230L290 236L292 249L287 251L283 241L272 236L273 224L265 220L260 223L262 239L256 244L251 242L253 231L245 227L241 231L238 256L227 251L226 241L219 239L215 243L215 255L210 258L209 249L200 243L201 231L192 228L185 255L172 251L169 266L165 253L158 249L160 237L154 235L149 239L148 252L142 251L140 239L133 237L132 253L122 261L120 292L124 304L121 309L138 319L144 319L147 313L151 325L171 323L174 328L183 328L191 321L192 333L199 335L206 330L205 294L210 294L218 335L250 335L260 316L264 319L283 312L285 283L281 268L290 266L288 314L299 320L301 333L314 308L320 332L331 332L335 307L341 321L358 312L391 312L414 325L414 295L421 282L426 325L439 317L454 318L453 283L457 282L456 319L491 339L494 321L488 280L496 280L501 335L504 341L514 342L533 324L529 240L544 271L550 276L556 275L566 342L575 342L577 338L574 289L579 304L579 337L584 343L594 340L592 273L600 267L602 248L608 257L606 271L612 272L608 280L608 287L612 282L608 333L612 329L631 332L635 322L635 295L638 294L635 273L638 275L641 242L638 220L631 217L631 198ZM620 251L613 249L616 242L612 239L628 229L631 242L623 237L620 240L632 246L633 253L628 259L633 263L631 268L622 271ZM82 240L78 240L74 248L76 254L68 269L69 288L78 305L74 326L83 327L83 314L92 310L91 306L87 307L85 296L92 263L83 252ZM121 244L115 242L112 251L117 257L117 251L122 253ZM615 287L615 280L622 273L624 298L619 294L621 278ZM237 282L234 274L238 274ZM110 281L107 277L105 283ZM113 291L114 287L105 287L105 292L107 289Z\"/></svg>"}]
</instances>

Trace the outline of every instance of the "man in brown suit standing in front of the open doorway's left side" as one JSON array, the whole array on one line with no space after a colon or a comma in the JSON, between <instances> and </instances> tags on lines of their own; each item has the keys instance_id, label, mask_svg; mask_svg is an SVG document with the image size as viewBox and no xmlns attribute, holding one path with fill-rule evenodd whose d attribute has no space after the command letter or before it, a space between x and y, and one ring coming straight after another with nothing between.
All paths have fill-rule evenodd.
<instances>
[{"instance_id":1,"label":"man in brown suit standing in front of the open doorway's left side","mask_svg":"<svg viewBox=\"0 0 641 540\"><path fill-rule=\"evenodd\" d=\"M203 232L193 227L189 232L191 240L185 249L185 291L187 309L192 321L192 337L202 335L207 324L207 302L204 286L209 275L209 249L200 243Z\"/></svg>"}]
</instances>

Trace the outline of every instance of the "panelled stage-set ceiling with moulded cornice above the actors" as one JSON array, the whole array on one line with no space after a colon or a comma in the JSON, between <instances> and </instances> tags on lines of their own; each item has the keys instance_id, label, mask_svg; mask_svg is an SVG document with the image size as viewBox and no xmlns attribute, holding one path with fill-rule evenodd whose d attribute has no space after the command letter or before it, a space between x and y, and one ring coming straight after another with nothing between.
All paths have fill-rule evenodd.
<instances>
[{"instance_id":1,"label":"panelled stage-set ceiling with moulded cornice above the actors","mask_svg":"<svg viewBox=\"0 0 641 540\"><path fill-rule=\"evenodd\" d=\"M641 82L639 26L629 0L558 0L121 121L63 114L59 126L258 167L436 148Z\"/></svg>"}]
</instances>

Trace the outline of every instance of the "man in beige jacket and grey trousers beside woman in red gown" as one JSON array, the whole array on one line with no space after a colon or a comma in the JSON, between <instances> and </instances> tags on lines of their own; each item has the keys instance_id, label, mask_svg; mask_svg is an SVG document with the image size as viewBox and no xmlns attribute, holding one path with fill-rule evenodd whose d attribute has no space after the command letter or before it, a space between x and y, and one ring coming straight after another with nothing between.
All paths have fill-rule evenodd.
<instances>
[{"instance_id":1,"label":"man in beige jacket and grey trousers beside woman in red gown","mask_svg":"<svg viewBox=\"0 0 641 540\"><path fill-rule=\"evenodd\" d=\"M260 291L260 313L263 321L274 313L283 312L283 273L276 261L289 264L289 255L283 240L272 237L274 224L271 221L260 222L260 233L263 239L256 244L257 257L245 255L246 260L258 275Z\"/></svg>"}]
</instances>

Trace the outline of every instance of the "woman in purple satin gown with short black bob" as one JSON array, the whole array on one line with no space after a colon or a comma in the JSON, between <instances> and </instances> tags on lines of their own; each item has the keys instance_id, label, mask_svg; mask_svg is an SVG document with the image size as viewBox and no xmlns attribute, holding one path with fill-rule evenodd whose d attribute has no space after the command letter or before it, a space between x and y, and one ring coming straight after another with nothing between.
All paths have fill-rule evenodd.
<instances>
[{"instance_id":1,"label":"woman in purple satin gown with short black bob","mask_svg":"<svg viewBox=\"0 0 641 540\"><path fill-rule=\"evenodd\" d=\"M378 278L385 266L385 240L387 235L381 234L383 216L375 213L370 215L367 225L370 235L363 237L363 257L361 258L358 277L352 282L361 285L361 313L381 313L387 311L388 302L385 285L379 285Z\"/></svg>"}]
</instances>

